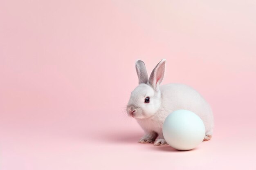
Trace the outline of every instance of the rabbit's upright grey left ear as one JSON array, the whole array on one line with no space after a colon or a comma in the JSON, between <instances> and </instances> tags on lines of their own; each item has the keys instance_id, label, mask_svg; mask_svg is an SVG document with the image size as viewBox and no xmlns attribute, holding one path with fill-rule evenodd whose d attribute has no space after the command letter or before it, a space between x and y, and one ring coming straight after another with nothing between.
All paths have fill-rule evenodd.
<instances>
[{"instance_id":1,"label":"rabbit's upright grey left ear","mask_svg":"<svg viewBox=\"0 0 256 170\"><path fill-rule=\"evenodd\" d=\"M136 67L136 71L137 71L137 75L139 78L139 84L141 83L148 83L148 73L146 70L146 66L145 63L141 60L137 60L137 62L135 63L135 67Z\"/></svg>"}]
</instances>

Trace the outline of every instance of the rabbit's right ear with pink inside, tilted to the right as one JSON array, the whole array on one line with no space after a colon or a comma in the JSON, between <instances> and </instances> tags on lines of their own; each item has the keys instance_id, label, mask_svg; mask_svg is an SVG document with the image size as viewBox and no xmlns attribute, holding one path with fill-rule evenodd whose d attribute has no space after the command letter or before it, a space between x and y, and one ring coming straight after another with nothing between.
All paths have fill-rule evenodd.
<instances>
[{"instance_id":1,"label":"rabbit's right ear with pink inside, tilted to the right","mask_svg":"<svg viewBox=\"0 0 256 170\"><path fill-rule=\"evenodd\" d=\"M162 59L157 66L155 66L149 77L149 84L156 90L159 90L159 85L164 78L165 59Z\"/></svg>"}]
</instances>

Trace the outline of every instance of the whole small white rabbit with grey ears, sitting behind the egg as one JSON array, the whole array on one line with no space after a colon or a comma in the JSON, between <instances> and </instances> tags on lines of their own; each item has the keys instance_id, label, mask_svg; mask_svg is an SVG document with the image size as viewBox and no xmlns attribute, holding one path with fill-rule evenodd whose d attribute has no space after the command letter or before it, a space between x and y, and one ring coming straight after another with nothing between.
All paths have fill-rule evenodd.
<instances>
[{"instance_id":1,"label":"whole small white rabbit with grey ears, sitting behind the egg","mask_svg":"<svg viewBox=\"0 0 256 170\"><path fill-rule=\"evenodd\" d=\"M184 84L159 86L164 77L166 60L161 60L153 69L149 79L143 61L136 62L139 86L132 91L127 105L128 116L134 117L145 135L139 143L167 145L162 133L165 118L174 110L186 109L196 113L204 122L204 141L213 134L213 114L209 104L193 88Z\"/></svg>"}]
</instances>

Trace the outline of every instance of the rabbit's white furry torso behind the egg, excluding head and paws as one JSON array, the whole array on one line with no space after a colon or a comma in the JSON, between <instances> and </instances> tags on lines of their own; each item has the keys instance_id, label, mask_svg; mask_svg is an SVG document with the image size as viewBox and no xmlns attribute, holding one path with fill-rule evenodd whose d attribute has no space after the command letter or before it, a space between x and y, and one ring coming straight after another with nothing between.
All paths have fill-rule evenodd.
<instances>
[{"instance_id":1,"label":"rabbit's white furry torso behind the egg, excluding head and paws","mask_svg":"<svg viewBox=\"0 0 256 170\"><path fill-rule=\"evenodd\" d=\"M174 110L190 110L197 114L205 125L206 135L213 132L213 114L209 104L190 86L184 84L165 84L160 86L162 105L159 110L146 119L136 119L144 131L153 131L162 137L165 118ZM205 139L207 140L207 139Z\"/></svg>"}]
</instances>

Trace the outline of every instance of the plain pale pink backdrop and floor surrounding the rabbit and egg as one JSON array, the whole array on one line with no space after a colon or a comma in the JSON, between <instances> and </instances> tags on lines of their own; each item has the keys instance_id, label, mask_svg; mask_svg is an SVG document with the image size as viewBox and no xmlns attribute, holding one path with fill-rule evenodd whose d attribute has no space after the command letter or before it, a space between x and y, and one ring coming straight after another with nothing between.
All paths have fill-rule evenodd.
<instances>
[{"instance_id":1,"label":"plain pale pink backdrop and floor surrounding the rabbit and egg","mask_svg":"<svg viewBox=\"0 0 256 170\"><path fill-rule=\"evenodd\" d=\"M256 169L256 2L2 0L0 169ZM162 84L211 104L215 131L195 150L138 144L124 112L166 58Z\"/></svg>"}]
</instances>

